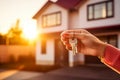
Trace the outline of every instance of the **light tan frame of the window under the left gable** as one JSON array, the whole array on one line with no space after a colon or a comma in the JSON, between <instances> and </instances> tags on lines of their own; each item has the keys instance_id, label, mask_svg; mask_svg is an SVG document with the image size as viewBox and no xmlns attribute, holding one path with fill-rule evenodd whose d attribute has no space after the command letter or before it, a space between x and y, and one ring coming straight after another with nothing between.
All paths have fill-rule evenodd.
<instances>
[{"instance_id":1,"label":"light tan frame of the window under the left gable","mask_svg":"<svg viewBox=\"0 0 120 80\"><path fill-rule=\"evenodd\" d=\"M60 15L59 16L59 18L60 18L60 23L58 23L58 14ZM50 16L52 16L52 15L55 15L55 24L53 24L53 25L49 25L47 22L48 22L48 17L50 17ZM56 26L59 26L59 25L61 25L61 16L62 16L62 14L61 14L61 11L58 11L58 12L54 12L54 13L49 13L49 14L45 14L45 15L42 15L42 28L49 28L49 27L56 27ZM46 21L44 22L44 18L46 18ZM46 24L46 25L44 25L44 23Z\"/></svg>"}]
</instances>

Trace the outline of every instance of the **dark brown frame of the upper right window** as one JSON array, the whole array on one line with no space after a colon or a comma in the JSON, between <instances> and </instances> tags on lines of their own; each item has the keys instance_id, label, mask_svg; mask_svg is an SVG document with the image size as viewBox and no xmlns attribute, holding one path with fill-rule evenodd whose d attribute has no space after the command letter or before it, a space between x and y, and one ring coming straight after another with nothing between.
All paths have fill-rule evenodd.
<instances>
[{"instance_id":1,"label":"dark brown frame of the upper right window","mask_svg":"<svg viewBox=\"0 0 120 80\"><path fill-rule=\"evenodd\" d=\"M112 6L111 6L112 7L112 15L111 16L109 16L109 14L108 14L108 3L109 2L112 2ZM100 18L95 18L95 6L100 5L100 4L105 4L106 16L105 17L101 16ZM92 7L92 16L93 16L91 19L89 19L89 8L90 7ZM87 5L87 20L88 21L112 18L112 17L114 17L114 14L115 14L115 12L114 12L114 0L102 1L102 2Z\"/></svg>"}]
</instances>

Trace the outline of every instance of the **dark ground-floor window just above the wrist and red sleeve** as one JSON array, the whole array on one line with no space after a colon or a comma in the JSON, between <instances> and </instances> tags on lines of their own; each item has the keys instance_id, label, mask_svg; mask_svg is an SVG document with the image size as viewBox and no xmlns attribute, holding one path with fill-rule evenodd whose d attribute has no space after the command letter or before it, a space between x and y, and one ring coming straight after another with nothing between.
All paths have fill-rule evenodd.
<instances>
[{"instance_id":1,"label":"dark ground-floor window just above the wrist and red sleeve","mask_svg":"<svg viewBox=\"0 0 120 80\"><path fill-rule=\"evenodd\" d=\"M98 38L102 40L103 42L107 42L117 47L117 35L99 36Z\"/></svg>"}]
</instances>

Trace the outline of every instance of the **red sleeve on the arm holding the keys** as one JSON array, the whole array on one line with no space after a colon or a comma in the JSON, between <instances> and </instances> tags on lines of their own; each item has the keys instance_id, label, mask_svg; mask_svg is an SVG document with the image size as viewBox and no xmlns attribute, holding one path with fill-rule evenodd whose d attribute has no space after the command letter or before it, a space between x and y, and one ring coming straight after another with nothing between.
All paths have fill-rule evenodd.
<instances>
[{"instance_id":1,"label":"red sleeve on the arm holding the keys","mask_svg":"<svg viewBox=\"0 0 120 80\"><path fill-rule=\"evenodd\" d=\"M101 59L103 63L117 71L120 74L120 50L108 45L104 52L104 57Z\"/></svg>"}]
</instances>

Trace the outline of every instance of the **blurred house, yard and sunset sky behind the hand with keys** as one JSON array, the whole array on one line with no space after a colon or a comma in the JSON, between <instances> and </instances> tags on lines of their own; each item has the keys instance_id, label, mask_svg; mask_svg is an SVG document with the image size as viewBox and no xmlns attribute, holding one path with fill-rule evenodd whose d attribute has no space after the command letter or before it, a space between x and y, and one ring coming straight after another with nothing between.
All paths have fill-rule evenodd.
<instances>
[{"instance_id":1,"label":"blurred house, yard and sunset sky behind the hand with keys","mask_svg":"<svg viewBox=\"0 0 120 80\"><path fill-rule=\"evenodd\" d=\"M60 40L62 31L83 28L120 48L119 8L120 0L0 0L0 79L120 79Z\"/></svg>"}]
</instances>

